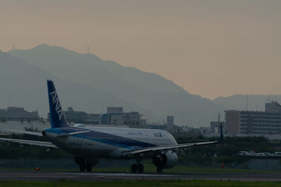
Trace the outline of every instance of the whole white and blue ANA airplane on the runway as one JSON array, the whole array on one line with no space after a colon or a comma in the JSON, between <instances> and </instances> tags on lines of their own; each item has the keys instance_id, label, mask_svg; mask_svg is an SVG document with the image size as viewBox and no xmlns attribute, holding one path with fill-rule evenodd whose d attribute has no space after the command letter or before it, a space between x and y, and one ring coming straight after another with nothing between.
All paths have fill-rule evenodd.
<instances>
[{"instance_id":1,"label":"whole white and blue ANA airplane on the runway","mask_svg":"<svg viewBox=\"0 0 281 187\"><path fill-rule=\"evenodd\" d=\"M164 130L150 130L119 127L89 127L83 124L69 125L63 113L53 81L47 80L48 101L51 128L40 132L22 132L46 137L48 141L31 141L23 139L0 138L19 144L60 148L74 155L81 172L91 172L100 158L134 159L131 172L143 173L144 158L152 159L157 173L176 165L177 152L181 148L216 144L218 141L206 141L190 144L177 144L173 135Z\"/></svg>"}]
</instances>

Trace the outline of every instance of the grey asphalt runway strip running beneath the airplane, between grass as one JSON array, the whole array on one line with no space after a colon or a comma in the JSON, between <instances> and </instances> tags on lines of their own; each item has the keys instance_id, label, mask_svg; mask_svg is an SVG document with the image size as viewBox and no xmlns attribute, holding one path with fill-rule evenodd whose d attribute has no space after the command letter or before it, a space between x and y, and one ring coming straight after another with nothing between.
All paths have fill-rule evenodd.
<instances>
[{"instance_id":1,"label":"grey asphalt runway strip running beneath the airplane, between grass","mask_svg":"<svg viewBox=\"0 0 281 187\"><path fill-rule=\"evenodd\" d=\"M203 179L215 181L281 181L281 173L164 173L132 174L109 172L18 172L1 171L1 181L120 181L120 180L166 180L166 179Z\"/></svg>"}]
</instances>

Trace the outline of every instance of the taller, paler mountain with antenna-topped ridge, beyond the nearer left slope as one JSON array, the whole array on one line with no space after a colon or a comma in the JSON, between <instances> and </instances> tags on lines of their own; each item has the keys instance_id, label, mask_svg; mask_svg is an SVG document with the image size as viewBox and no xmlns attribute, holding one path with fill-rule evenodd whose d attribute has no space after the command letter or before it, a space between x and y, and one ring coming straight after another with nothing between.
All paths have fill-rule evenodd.
<instances>
[{"instance_id":1,"label":"taller, paler mountain with antenna-topped ridge, beyond the nearer left slope","mask_svg":"<svg viewBox=\"0 0 281 187\"><path fill-rule=\"evenodd\" d=\"M87 88L95 88L100 92L103 90L114 95L112 99L118 98L117 101L139 106L143 109L141 112L145 115L144 118L150 118L150 121L158 120L162 123L165 116L173 115L178 125L207 126L210 120L217 118L219 111L223 111L223 107L210 99L190 95L162 76L133 67L123 67L117 62L101 60L96 55L75 53L45 44L30 50L11 50L8 53L62 80L88 85ZM91 97L91 102L98 102L98 98ZM107 101L107 106L124 106L116 102L108 103L110 102ZM80 104L80 107L83 109L84 105ZM126 110L137 108L131 106Z\"/></svg>"}]
</instances>

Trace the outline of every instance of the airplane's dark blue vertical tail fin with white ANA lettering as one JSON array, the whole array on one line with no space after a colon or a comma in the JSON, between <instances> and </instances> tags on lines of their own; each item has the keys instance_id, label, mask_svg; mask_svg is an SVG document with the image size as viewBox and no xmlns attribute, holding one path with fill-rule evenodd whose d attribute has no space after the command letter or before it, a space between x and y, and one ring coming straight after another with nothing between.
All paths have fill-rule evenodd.
<instances>
[{"instance_id":1,"label":"airplane's dark blue vertical tail fin with white ANA lettering","mask_svg":"<svg viewBox=\"0 0 281 187\"><path fill-rule=\"evenodd\" d=\"M48 85L48 104L50 106L50 119L52 128L67 127L68 123L65 119L63 109L60 106L60 100L55 90L53 81L47 80Z\"/></svg>"}]
</instances>

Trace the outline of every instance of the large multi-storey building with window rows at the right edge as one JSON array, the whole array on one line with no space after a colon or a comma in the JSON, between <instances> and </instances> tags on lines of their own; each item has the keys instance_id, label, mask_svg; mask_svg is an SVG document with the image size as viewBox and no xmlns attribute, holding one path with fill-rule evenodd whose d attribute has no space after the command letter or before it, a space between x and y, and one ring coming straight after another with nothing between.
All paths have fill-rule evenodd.
<instances>
[{"instance_id":1,"label":"large multi-storey building with window rows at the right edge","mask_svg":"<svg viewBox=\"0 0 281 187\"><path fill-rule=\"evenodd\" d=\"M281 106L266 103L265 111L225 111L228 134L281 134Z\"/></svg>"}]
</instances>

